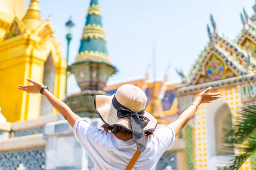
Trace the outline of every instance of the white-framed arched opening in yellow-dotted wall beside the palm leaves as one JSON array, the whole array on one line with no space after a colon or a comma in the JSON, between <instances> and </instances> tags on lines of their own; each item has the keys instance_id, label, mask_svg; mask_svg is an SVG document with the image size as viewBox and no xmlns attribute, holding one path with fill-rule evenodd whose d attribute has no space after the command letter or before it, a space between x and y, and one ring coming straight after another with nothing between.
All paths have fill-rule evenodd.
<instances>
[{"instance_id":1,"label":"white-framed arched opening in yellow-dotted wall beside the palm leaves","mask_svg":"<svg viewBox=\"0 0 256 170\"><path fill-rule=\"evenodd\" d=\"M207 164L215 169L216 156L233 155L234 149L224 147L225 135L232 129L229 106L223 100L208 104L206 110ZM211 170L211 169L210 169Z\"/></svg>"}]
</instances>

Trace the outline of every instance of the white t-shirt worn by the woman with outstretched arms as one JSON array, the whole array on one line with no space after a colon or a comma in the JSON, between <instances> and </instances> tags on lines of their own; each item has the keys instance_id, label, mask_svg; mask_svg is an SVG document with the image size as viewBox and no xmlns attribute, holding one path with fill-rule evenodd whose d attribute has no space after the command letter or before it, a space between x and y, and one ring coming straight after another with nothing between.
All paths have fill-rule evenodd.
<instances>
[{"instance_id":1,"label":"white t-shirt worn by the woman with outstretched arms","mask_svg":"<svg viewBox=\"0 0 256 170\"><path fill-rule=\"evenodd\" d=\"M96 170L124 170L137 150L133 139L122 141L84 119L74 125L76 140L94 162ZM132 170L154 170L163 153L175 142L175 131L165 126L148 136L146 149L140 154Z\"/></svg>"}]
</instances>

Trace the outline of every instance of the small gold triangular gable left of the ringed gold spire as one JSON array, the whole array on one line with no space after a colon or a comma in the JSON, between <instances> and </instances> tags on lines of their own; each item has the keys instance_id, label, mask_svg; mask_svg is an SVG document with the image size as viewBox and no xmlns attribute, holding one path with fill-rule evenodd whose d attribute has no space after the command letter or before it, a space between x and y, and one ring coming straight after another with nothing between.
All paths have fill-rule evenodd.
<instances>
[{"instance_id":1,"label":"small gold triangular gable left of the ringed gold spire","mask_svg":"<svg viewBox=\"0 0 256 170\"><path fill-rule=\"evenodd\" d=\"M15 17L12 23L9 25L9 28L6 31L6 34L3 36L3 40L15 37L17 35L23 34L25 32L25 25L18 17Z\"/></svg>"}]
</instances>

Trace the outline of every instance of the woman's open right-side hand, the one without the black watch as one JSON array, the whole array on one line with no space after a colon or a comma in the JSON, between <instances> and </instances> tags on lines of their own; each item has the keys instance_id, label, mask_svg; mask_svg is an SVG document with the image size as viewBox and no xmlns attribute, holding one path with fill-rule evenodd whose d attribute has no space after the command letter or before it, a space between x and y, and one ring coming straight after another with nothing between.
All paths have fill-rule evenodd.
<instances>
[{"instance_id":1,"label":"woman's open right-side hand, the one without the black watch","mask_svg":"<svg viewBox=\"0 0 256 170\"><path fill-rule=\"evenodd\" d=\"M219 98L221 98L221 93L208 93L212 88L207 88L206 90L202 91L198 94L198 98L201 103L211 103Z\"/></svg>"}]
</instances>

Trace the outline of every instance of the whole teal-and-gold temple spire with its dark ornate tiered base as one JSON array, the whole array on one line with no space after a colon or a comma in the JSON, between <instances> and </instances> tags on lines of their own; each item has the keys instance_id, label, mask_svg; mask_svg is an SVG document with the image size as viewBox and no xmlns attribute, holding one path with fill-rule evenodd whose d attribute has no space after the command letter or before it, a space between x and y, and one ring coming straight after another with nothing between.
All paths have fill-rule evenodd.
<instances>
[{"instance_id":1,"label":"whole teal-and-gold temple spire with its dark ornate tiered base","mask_svg":"<svg viewBox=\"0 0 256 170\"><path fill-rule=\"evenodd\" d=\"M80 117L97 117L94 96L108 95L104 88L117 71L108 57L98 0L90 2L79 53L69 71L75 75L81 93L66 96L64 102Z\"/></svg>"}]
</instances>

